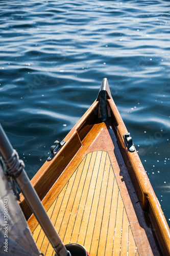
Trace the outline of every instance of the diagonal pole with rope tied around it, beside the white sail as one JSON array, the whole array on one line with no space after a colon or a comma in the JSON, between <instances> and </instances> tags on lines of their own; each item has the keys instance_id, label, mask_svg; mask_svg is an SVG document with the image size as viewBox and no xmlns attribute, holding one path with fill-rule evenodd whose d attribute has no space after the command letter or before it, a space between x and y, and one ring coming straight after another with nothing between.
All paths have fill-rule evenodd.
<instances>
[{"instance_id":1,"label":"diagonal pole with rope tied around it, beside the white sail","mask_svg":"<svg viewBox=\"0 0 170 256\"><path fill-rule=\"evenodd\" d=\"M12 176L23 196L25 197L27 203L29 204L30 208L32 209L37 221L41 225L44 233L46 234L48 240L52 244L55 252L58 256L68 256L70 255L69 252L66 250L62 240L59 237L53 223L51 222L50 218L48 217L34 187L32 186L29 177L23 166L21 166L21 162L14 152L13 147L5 134L2 125L0 124L0 153L3 157L7 165L7 172L8 168L10 169L10 176ZM15 169L12 169L15 166ZM18 168L20 168L19 172L17 173Z\"/></svg>"}]
</instances>

